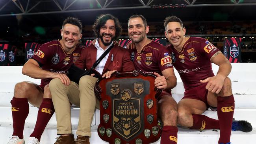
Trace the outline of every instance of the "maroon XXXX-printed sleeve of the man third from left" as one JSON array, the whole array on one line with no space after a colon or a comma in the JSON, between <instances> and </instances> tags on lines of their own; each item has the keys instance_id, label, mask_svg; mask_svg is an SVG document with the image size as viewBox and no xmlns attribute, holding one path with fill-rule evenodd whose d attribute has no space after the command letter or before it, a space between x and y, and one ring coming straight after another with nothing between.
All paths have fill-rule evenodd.
<instances>
[{"instance_id":1,"label":"maroon XXXX-printed sleeve of the man third from left","mask_svg":"<svg viewBox=\"0 0 256 144\"><path fill-rule=\"evenodd\" d=\"M172 59L167 48L161 47L159 49L158 60L158 65L161 72L167 68L173 68Z\"/></svg>"}]
</instances>

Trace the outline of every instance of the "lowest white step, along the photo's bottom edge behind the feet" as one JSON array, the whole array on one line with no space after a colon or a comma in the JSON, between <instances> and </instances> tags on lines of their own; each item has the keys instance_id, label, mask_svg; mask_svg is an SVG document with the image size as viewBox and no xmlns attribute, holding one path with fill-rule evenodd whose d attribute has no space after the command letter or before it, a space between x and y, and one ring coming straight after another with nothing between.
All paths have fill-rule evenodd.
<instances>
[{"instance_id":1,"label":"lowest white step, along the photo's bottom edge behind the feet","mask_svg":"<svg viewBox=\"0 0 256 144\"><path fill-rule=\"evenodd\" d=\"M91 144L108 144L100 139L96 132L97 125L92 127L92 137L90 138ZM6 144L13 132L12 128L0 127L0 141L1 144ZM25 141L28 141L29 135L33 132L33 129L24 129ZM75 134L76 131L73 131ZM41 137L40 144L54 144L56 141L56 129L46 129ZM75 135L76 137L76 135ZM178 144L217 144L219 139L219 130L190 130L178 127ZM231 135L232 144L255 144L256 142L256 129L254 127L252 132L244 133L241 131L232 131ZM160 144L160 139L152 144Z\"/></svg>"}]
</instances>

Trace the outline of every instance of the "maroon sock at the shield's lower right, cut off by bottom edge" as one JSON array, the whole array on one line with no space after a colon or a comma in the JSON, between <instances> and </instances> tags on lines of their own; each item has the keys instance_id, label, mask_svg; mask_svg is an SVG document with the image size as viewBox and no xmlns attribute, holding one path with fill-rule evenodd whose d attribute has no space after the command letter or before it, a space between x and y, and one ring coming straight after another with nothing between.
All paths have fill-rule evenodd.
<instances>
[{"instance_id":1,"label":"maroon sock at the shield's lower right, cut off by bottom edge","mask_svg":"<svg viewBox=\"0 0 256 144\"><path fill-rule=\"evenodd\" d=\"M176 126L163 126L160 144L177 144L178 128Z\"/></svg>"}]
</instances>

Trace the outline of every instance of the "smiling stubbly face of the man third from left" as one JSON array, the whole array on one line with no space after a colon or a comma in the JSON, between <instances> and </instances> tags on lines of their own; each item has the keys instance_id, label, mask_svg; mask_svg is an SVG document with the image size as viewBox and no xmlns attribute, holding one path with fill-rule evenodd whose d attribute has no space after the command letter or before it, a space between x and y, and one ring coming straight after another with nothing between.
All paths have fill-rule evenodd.
<instances>
[{"instance_id":1,"label":"smiling stubbly face of the man third from left","mask_svg":"<svg viewBox=\"0 0 256 144\"><path fill-rule=\"evenodd\" d=\"M131 18L128 23L128 35L134 43L139 43L147 39L146 34L149 31L148 26L144 26L140 17Z\"/></svg>"}]
</instances>

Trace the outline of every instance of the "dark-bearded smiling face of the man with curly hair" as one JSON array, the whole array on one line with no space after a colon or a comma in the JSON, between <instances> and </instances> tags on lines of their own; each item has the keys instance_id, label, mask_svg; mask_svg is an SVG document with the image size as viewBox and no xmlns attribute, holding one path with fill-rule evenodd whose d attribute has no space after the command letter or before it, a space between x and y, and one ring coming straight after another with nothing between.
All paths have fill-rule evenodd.
<instances>
[{"instance_id":1,"label":"dark-bearded smiling face of the man with curly hair","mask_svg":"<svg viewBox=\"0 0 256 144\"><path fill-rule=\"evenodd\" d=\"M104 46L108 46L113 41L113 38L115 37L115 22L114 20L107 20L106 24L104 24L100 28L100 40L99 42L102 42Z\"/></svg>"}]
</instances>

